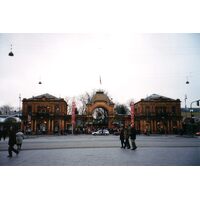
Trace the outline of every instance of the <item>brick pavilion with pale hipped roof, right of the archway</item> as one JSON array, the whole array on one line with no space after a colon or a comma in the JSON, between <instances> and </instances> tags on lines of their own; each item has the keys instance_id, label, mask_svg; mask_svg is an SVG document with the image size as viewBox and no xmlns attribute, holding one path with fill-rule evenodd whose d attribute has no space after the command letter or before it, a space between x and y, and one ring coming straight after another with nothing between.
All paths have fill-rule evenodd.
<instances>
[{"instance_id":1,"label":"brick pavilion with pale hipped roof, right of the archway","mask_svg":"<svg viewBox=\"0 0 200 200\"><path fill-rule=\"evenodd\" d=\"M135 103L135 127L140 133L176 133L182 128L180 100L152 94Z\"/></svg>"}]
</instances>

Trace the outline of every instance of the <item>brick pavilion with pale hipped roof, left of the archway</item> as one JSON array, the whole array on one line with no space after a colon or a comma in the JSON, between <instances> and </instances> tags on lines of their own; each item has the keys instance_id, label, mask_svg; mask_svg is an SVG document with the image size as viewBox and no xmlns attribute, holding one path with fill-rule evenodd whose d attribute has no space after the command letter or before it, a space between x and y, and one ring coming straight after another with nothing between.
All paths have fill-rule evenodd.
<instances>
[{"instance_id":1,"label":"brick pavilion with pale hipped roof, left of the archway","mask_svg":"<svg viewBox=\"0 0 200 200\"><path fill-rule=\"evenodd\" d=\"M42 94L22 101L22 128L33 134L62 132L67 126L68 105L63 98Z\"/></svg>"}]
</instances>

